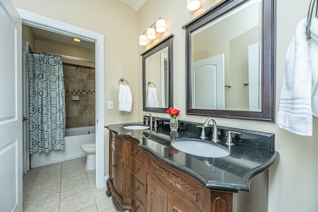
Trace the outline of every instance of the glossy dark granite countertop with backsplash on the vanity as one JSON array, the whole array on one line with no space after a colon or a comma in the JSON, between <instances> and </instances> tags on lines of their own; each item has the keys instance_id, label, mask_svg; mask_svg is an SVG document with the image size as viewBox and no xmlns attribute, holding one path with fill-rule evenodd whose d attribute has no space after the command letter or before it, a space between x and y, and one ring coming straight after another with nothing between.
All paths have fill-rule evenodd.
<instances>
[{"instance_id":1,"label":"glossy dark granite countertop with backsplash on the vanity","mask_svg":"<svg viewBox=\"0 0 318 212\"><path fill-rule=\"evenodd\" d=\"M177 138L200 139L201 128L196 125L202 124L179 121L179 129L174 132L170 131L168 120L160 119L159 126L152 131L123 128L129 124L143 125L142 122L108 125L105 128L119 136L129 136L140 141L139 147L162 162L192 176L209 189L249 191L251 179L270 168L279 158L279 153L274 150L274 134L222 126L218 126L218 144L227 147L230 155L213 158L188 154L171 146L171 141ZM212 142L212 128L205 130L205 140ZM229 130L241 133L232 136L234 145L231 147L225 144Z\"/></svg>"}]
</instances>

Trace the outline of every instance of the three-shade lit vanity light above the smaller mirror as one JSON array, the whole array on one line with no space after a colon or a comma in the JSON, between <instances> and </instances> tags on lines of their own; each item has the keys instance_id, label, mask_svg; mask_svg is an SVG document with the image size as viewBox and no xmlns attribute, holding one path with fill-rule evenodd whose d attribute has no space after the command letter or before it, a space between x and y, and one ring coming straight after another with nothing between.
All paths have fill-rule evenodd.
<instances>
[{"instance_id":1,"label":"three-shade lit vanity light above the smaller mirror","mask_svg":"<svg viewBox=\"0 0 318 212\"><path fill-rule=\"evenodd\" d=\"M156 39L156 34L165 32L166 30L165 20L159 17L155 23L153 23L142 35L139 36L139 44L142 46L148 45L148 40Z\"/></svg>"}]
</instances>

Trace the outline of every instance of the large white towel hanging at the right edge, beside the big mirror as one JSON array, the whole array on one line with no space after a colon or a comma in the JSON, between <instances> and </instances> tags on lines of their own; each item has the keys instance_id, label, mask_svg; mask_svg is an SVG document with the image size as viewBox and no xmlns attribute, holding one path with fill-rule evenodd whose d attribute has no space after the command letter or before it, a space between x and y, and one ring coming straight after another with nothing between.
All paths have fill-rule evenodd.
<instances>
[{"instance_id":1,"label":"large white towel hanging at the right edge, beside the big mirror","mask_svg":"<svg viewBox=\"0 0 318 212\"><path fill-rule=\"evenodd\" d=\"M312 136L313 115L318 112L318 19L312 18L309 41L306 26L307 18L297 24L287 50L276 123L292 133Z\"/></svg>"}]
</instances>

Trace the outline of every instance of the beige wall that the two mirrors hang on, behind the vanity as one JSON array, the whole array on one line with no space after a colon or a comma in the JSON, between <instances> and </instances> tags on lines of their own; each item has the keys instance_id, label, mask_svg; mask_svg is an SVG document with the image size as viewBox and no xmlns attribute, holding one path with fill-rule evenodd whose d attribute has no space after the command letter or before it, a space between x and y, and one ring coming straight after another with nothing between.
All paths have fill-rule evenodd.
<instances>
[{"instance_id":1,"label":"beige wall that the two mirrors hang on, behind the vanity","mask_svg":"<svg viewBox=\"0 0 318 212\"><path fill-rule=\"evenodd\" d=\"M214 0L202 0L203 6L194 12L187 11L185 0L147 0L138 12L138 33L144 32L159 16L166 20L167 32L173 33L173 89L174 107L180 109L180 120L203 123L208 117L185 115L185 32L181 28L210 8ZM276 108L283 79L285 56L296 24L307 16L310 0L277 0L277 57L276 57ZM176 12L177 11L177 12ZM156 40L156 42L158 42ZM138 54L150 48L139 46ZM138 60L138 70L142 69ZM138 72L139 92L142 92L141 71ZM143 113L140 102L139 115ZM153 113L168 118L167 114ZM141 119L139 119L141 120ZM269 169L269 212L317 212L318 201L318 118L314 117L314 135L302 137L281 130L274 123L216 118L218 125L269 132L275 134L275 148L280 153L276 165Z\"/></svg>"}]
</instances>

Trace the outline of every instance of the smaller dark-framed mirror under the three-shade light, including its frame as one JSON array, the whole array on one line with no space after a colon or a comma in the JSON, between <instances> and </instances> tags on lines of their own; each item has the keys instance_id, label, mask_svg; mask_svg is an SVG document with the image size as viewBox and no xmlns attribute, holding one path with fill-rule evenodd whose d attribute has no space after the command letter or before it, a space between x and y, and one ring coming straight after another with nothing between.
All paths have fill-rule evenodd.
<instances>
[{"instance_id":1,"label":"smaller dark-framed mirror under the three-shade light, including its frame","mask_svg":"<svg viewBox=\"0 0 318 212\"><path fill-rule=\"evenodd\" d=\"M173 34L151 49L143 57L143 110L165 112L173 104L172 38Z\"/></svg>"}]
</instances>

